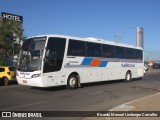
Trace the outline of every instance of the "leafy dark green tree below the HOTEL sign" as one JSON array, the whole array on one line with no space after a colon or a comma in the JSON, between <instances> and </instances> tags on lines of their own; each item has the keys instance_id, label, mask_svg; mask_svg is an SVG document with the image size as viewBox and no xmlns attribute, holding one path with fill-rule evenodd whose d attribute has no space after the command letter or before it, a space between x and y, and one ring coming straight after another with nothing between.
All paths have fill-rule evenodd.
<instances>
[{"instance_id":1,"label":"leafy dark green tree below the HOTEL sign","mask_svg":"<svg viewBox=\"0 0 160 120\"><path fill-rule=\"evenodd\" d=\"M0 65L5 65L4 57L18 53L22 40L22 24L16 21L5 20L0 23ZM15 41L19 39L15 48Z\"/></svg>"}]
</instances>

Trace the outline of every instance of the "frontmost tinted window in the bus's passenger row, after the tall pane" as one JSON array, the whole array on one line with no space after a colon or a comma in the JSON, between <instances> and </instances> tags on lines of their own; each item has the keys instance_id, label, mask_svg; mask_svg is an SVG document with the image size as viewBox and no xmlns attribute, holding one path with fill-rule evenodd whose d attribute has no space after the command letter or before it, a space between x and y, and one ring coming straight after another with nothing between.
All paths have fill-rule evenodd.
<instances>
[{"instance_id":1,"label":"frontmost tinted window in the bus's passenger row, after the tall pane","mask_svg":"<svg viewBox=\"0 0 160 120\"><path fill-rule=\"evenodd\" d=\"M85 56L85 42L69 40L68 56Z\"/></svg>"}]
</instances>

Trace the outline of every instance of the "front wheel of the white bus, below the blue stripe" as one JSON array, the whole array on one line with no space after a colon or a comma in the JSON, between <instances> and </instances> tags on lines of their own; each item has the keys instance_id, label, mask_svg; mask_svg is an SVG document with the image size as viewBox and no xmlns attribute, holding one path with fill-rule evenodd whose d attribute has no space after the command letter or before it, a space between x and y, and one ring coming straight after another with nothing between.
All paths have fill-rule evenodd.
<instances>
[{"instance_id":1,"label":"front wheel of the white bus, below the blue stripe","mask_svg":"<svg viewBox=\"0 0 160 120\"><path fill-rule=\"evenodd\" d=\"M75 74L71 74L67 81L67 89L76 89L78 87L78 77Z\"/></svg>"}]
</instances>

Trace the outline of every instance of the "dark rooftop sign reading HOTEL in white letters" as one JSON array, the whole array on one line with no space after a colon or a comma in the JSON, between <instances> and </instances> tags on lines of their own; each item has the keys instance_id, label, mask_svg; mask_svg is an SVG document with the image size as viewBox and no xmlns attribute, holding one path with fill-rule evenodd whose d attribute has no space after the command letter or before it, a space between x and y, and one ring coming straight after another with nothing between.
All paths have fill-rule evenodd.
<instances>
[{"instance_id":1,"label":"dark rooftop sign reading HOTEL in white letters","mask_svg":"<svg viewBox=\"0 0 160 120\"><path fill-rule=\"evenodd\" d=\"M2 12L1 15L4 20L14 20L14 21L23 23L23 16L5 13L5 12Z\"/></svg>"}]
</instances>

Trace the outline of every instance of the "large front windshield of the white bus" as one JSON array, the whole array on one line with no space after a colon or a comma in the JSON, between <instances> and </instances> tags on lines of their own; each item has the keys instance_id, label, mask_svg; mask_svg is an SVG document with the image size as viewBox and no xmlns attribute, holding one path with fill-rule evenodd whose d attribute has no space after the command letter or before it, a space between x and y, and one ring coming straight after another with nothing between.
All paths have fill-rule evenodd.
<instances>
[{"instance_id":1,"label":"large front windshield of the white bus","mask_svg":"<svg viewBox=\"0 0 160 120\"><path fill-rule=\"evenodd\" d=\"M46 37L35 37L24 40L17 69L32 72L41 69Z\"/></svg>"}]
</instances>

